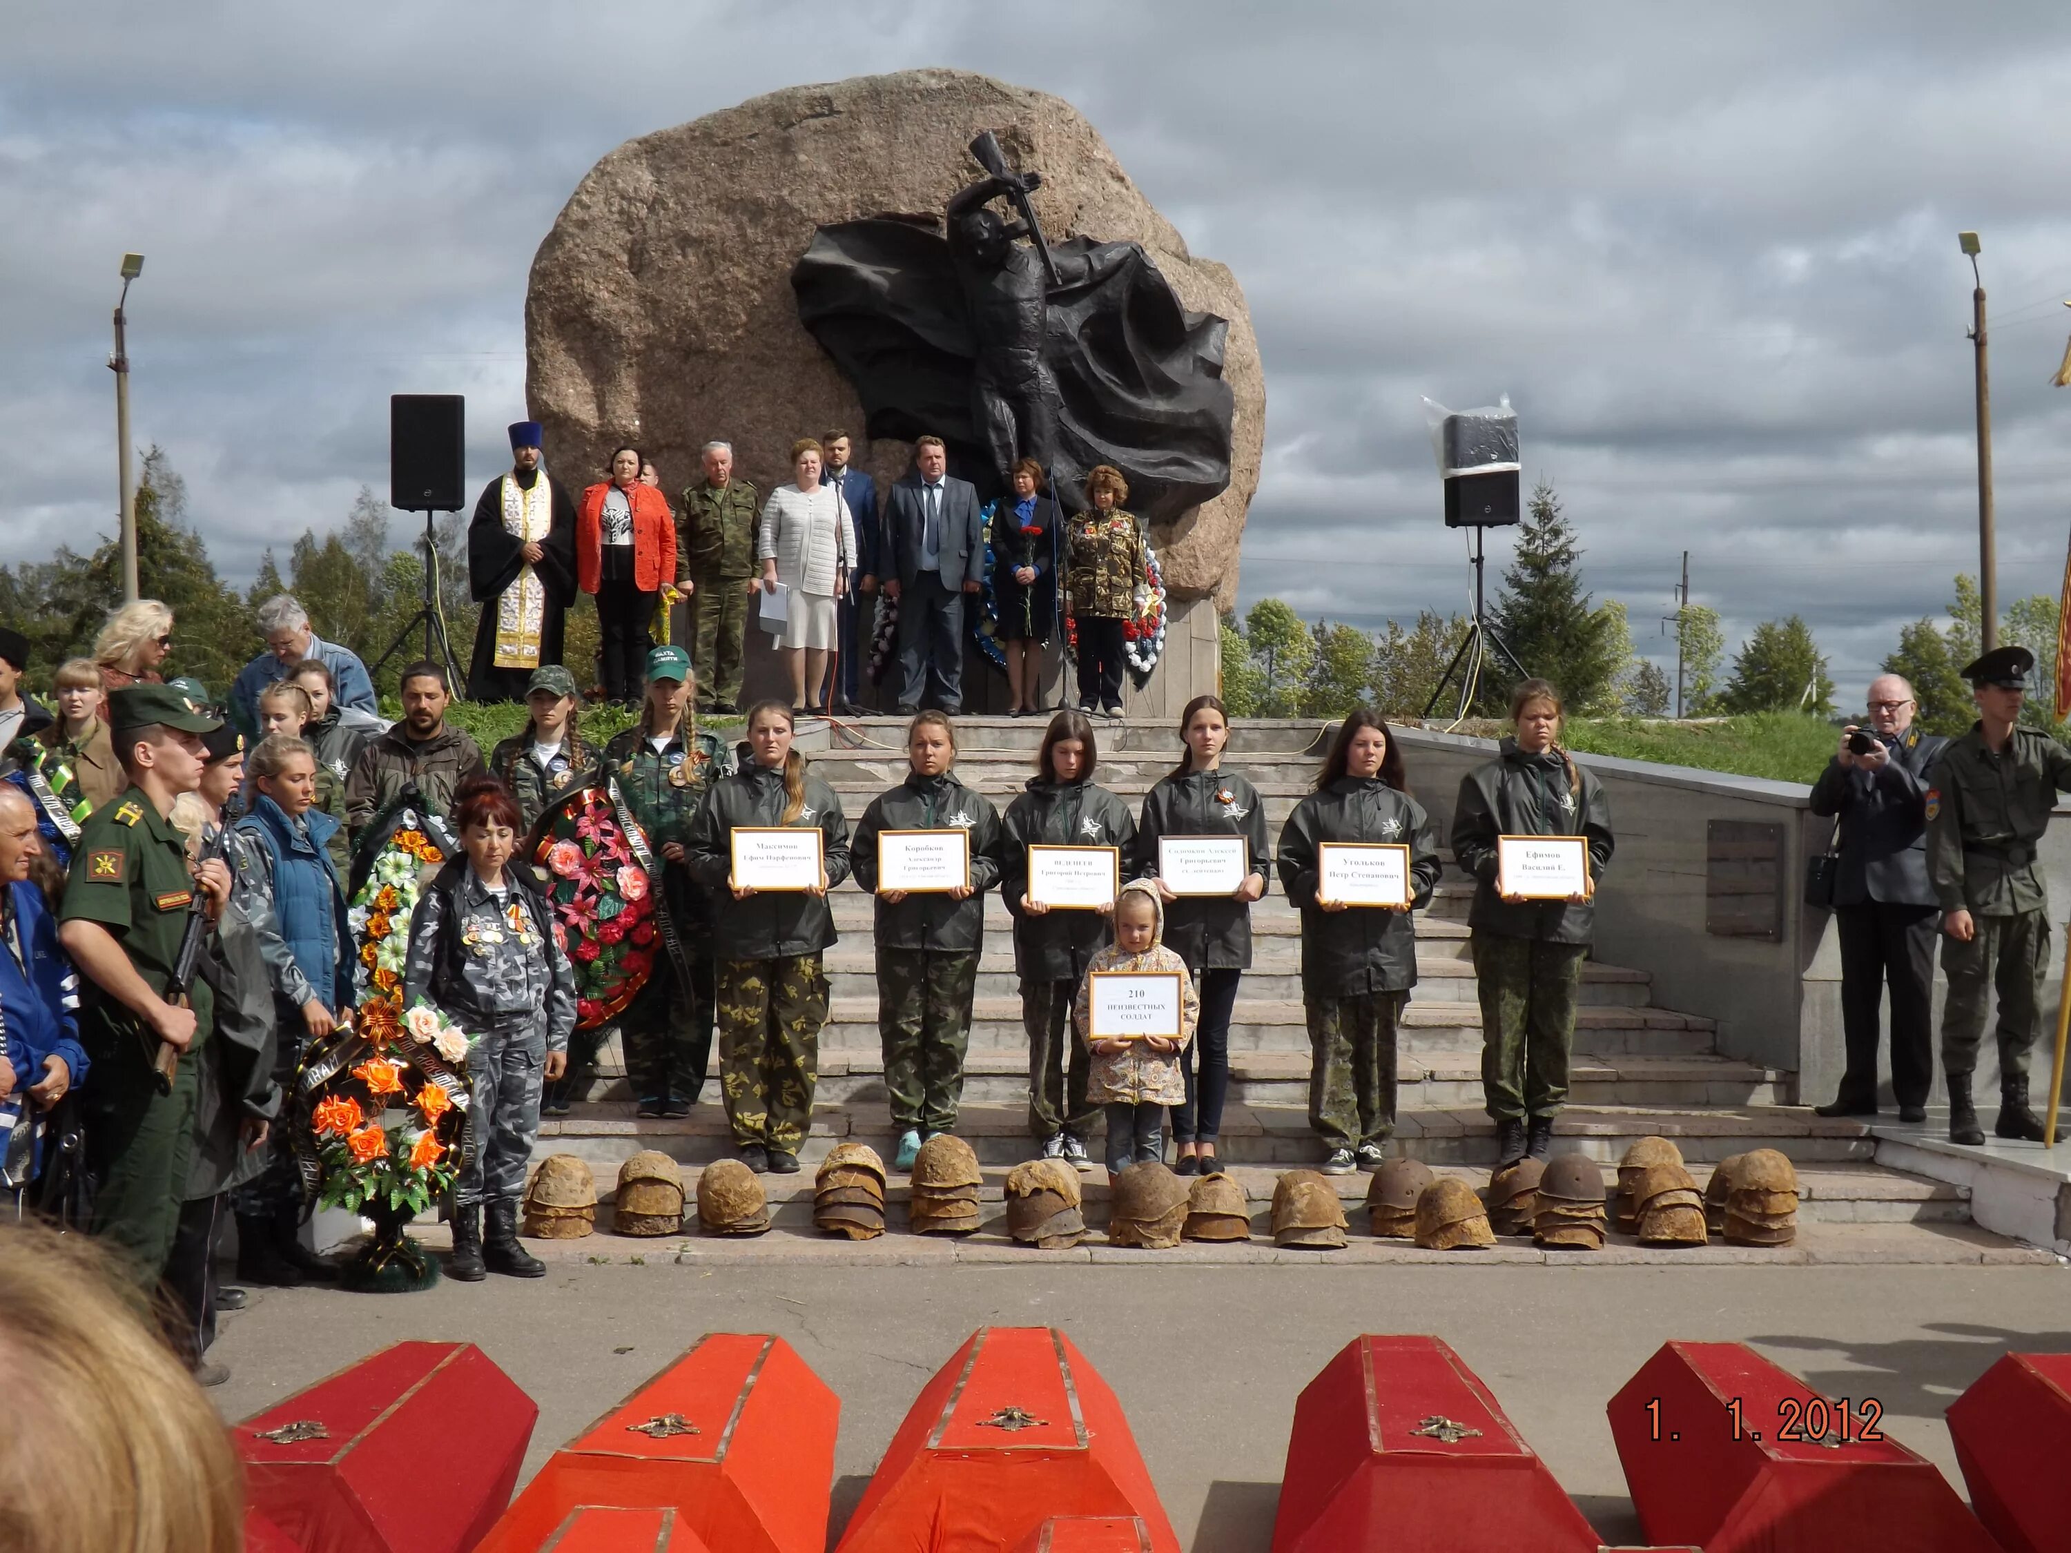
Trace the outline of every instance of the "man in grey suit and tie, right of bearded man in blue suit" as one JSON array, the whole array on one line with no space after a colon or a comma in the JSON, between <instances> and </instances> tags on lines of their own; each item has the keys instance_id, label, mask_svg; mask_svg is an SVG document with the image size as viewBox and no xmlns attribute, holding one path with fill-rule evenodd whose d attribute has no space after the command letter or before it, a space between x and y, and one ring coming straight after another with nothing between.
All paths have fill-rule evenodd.
<instances>
[{"instance_id":1,"label":"man in grey suit and tie, right of bearded man in blue suit","mask_svg":"<svg viewBox=\"0 0 2071 1553\"><path fill-rule=\"evenodd\" d=\"M946 474L940 437L922 437L913 464L884 503L880 555L884 596L899 605L899 710L917 712L926 687L955 714L963 710L963 594L986 588L978 487Z\"/></svg>"}]
</instances>

